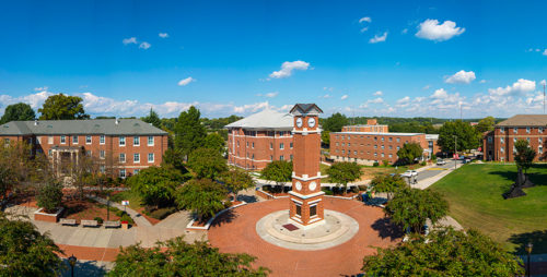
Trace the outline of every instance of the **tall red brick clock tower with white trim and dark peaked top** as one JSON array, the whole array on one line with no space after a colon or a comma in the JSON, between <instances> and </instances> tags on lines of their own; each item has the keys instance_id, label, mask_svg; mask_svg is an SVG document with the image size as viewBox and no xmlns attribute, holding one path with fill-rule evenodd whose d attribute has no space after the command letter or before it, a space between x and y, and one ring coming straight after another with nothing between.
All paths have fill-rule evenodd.
<instances>
[{"instance_id":1,"label":"tall red brick clock tower with white trim and dark peaked top","mask_svg":"<svg viewBox=\"0 0 547 277\"><path fill-rule=\"evenodd\" d=\"M290 194L290 221L309 229L325 222L321 190L321 129L315 104L296 104L290 111L294 116L292 191Z\"/></svg>"}]
</instances>

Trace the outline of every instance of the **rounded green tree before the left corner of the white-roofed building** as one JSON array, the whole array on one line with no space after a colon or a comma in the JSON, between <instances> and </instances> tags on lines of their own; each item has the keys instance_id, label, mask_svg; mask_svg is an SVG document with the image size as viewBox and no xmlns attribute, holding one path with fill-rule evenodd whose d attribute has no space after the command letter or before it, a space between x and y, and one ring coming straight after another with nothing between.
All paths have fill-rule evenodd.
<instances>
[{"instance_id":1,"label":"rounded green tree before the left corner of the white-roofed building","mask_svg":"<svg viewBox=\"0 0 547 277\"><path fill-rule=\"evenodd\" d=\"M194 150L188 165L198 179L216 179L228 170L226 161L220 156L218 150L211 148L198 148Z\"/></svg>"}]
</instances>

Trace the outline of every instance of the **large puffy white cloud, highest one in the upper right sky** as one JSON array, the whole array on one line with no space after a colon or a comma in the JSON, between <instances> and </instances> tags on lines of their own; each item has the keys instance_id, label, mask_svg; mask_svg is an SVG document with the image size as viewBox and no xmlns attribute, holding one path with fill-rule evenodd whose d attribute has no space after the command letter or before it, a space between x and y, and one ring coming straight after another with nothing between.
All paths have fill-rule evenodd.
<instances>
[{"instance_id":1,"label":"large puffy white cloud, highest one in the upper right sky","mask_svg":"<svg viewBox=\"0 0 547 277\"><path fill-rule=\"evenodd\" d=\"M445 21L443 24L439 24L438 20L426 20L420 23L418 28L418 33L416 33L417 37L435 41L449 40L465 32L465 28L456 27L456 23L453 21Z\"/></svg>"}]
</instances>

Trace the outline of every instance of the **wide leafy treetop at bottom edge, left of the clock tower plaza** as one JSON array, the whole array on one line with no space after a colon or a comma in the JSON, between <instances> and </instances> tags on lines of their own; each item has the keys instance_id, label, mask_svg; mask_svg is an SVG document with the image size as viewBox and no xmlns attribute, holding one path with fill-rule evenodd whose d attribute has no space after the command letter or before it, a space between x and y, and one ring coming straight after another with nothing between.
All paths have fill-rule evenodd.
<instances>
[{"instance_id":1,"label":"wide leafy treetop at bottom edge, left of the clock tower plaza","mask_svg":"<svg viewBox=\"0 0 547 277\"><path fill-rule=\"evenodd\" d=\"M267 276L268 268L253 268L256 257L221 253L207 242L187 243L183 237L146 249L139 244L120 249L108 276Z\"/></svg>"}]
</instances>

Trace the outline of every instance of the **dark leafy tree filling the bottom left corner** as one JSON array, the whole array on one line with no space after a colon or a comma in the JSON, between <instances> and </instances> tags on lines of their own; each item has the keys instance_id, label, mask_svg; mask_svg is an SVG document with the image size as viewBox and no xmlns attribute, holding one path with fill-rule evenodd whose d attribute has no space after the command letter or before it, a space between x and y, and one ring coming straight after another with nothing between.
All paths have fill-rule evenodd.
<instances>
[{"instance_id":1,"label":"dark leafy tree filling the bottom left corner","mask_svg":"<svg viewBox=\"0 0 547 277\"><path fill-rule=\"evenodd\" d=\"M58 276L63 253L48 233L28 220L10 220L0 212L0 276Z\"/></svg>"}]
</instances>

